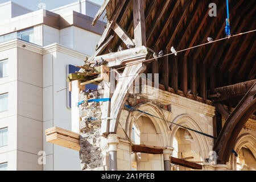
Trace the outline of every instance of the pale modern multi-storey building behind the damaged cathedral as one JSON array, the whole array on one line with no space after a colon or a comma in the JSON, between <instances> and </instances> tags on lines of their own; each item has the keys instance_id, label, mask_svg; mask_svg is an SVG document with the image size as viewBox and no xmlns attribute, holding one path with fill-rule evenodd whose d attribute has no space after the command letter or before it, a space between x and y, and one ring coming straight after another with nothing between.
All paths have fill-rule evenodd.
<instances>
[{"instance_id":1,"label":"pale modern multi-storey building behind the damaged cathedral","mask_svg":"<svg viewBox=\"0 0 256 182\"><path fill-rule=\"evenodd\" d=\"M95 51L105 26L90 26L99 7L0 5L0 170L81 169L79 152L47 143L44 130L71 130L69 91L57 91L67 87L68 68Z\"/></svg>"}]
</instances>

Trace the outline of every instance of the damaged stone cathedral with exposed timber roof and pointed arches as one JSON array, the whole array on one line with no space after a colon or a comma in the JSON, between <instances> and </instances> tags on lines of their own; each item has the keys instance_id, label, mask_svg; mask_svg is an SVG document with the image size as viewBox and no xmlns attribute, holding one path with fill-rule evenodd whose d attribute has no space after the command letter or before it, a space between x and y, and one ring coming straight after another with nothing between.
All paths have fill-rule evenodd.
<instances>
[{"instance_id":1,"label":"damaged stone cathedral with exposed timber roof and pointed arches","mask_svg":"<svg viewBox=\"0 0 256 182\"><path fill-rule=\"evenodd\" d=\"M82 170L256 170L251 7L229 1L226 36L222 0L105 0L96 52L67 79L72 131L48 142L79 151Z\"/></svg>"}]
</instances>

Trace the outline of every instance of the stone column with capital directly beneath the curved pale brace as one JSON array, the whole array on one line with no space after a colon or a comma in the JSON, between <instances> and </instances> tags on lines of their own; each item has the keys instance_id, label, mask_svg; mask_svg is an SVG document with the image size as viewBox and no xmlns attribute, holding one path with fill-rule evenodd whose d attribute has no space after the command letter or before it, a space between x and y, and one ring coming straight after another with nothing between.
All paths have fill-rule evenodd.
<instances>
[{"instance_id":1,"label":"stone column with capital directly beneath the curved pale brace","mask_svg":"<svg viewBox=\"0 0 256 182\"><path fill-rule=\"evenodd\" d=\"M117 144L118 144L117 134L109 134L108 145L109 145L109 170L110 171L117 171Z\"/></svg>"}]
</instances>

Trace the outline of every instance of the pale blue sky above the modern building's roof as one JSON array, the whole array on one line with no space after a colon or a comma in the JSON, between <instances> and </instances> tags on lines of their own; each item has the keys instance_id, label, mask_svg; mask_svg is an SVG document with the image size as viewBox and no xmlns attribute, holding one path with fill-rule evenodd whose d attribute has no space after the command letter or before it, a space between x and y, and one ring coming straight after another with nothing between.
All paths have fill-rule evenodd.
<instances>
[{"instance_id":1,"label":"pale blue sky above the modern building's roof","mask_svg":"<svg viewBox=\"0 0 256 182\"><path fill-rule=\"evenodd\" d=\"M0 0L0 4L7 2L10 0ZM41 2L41 0L12 0L13 2L22 5L24 7L27 7L28 9L31 10L37 10L38 9L38 4ZM55 9L56 7L68 5L70 3L76 2L78 0L42 0L43 3L46 4L46 9L51 10ZM99 5L102 5L104 0L91 0L94 3L97 3Z\"/></svg>"}]
</instances>

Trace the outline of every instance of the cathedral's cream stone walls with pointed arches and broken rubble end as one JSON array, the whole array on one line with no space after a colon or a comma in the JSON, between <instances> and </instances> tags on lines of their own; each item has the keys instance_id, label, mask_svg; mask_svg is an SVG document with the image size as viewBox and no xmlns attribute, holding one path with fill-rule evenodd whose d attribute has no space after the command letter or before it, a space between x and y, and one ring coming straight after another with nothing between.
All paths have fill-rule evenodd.
<instances>
[{"instance_id":1,"label":"cathedral's cream stone walls with pointed arches and broken rubble end","mask_svg":"<svg viewBox=\"0 0 256 182\"><path fill-rule=\"evenodd\" d=\"M155 92L154 88L147 88ZM98 95L97 95L98 94ZM201 161L203 170L234 170L233 158L227 165L216 165L211 158L214 151L213 139L204 135L186 130L182 125L193 130L213 135L214 107L201 102L192 101L176 94L159 90L159 97L154 98L148 92L143 94L129 94L126 104L136 109L146 111L156 117L123 107L119 117L117 134L111 134L112 140L101 136L102 102L87 102L86 100L102 98L99 93L79 94L80 115L80 159L82 170L109 170L109 151L117 153L118 170L164 170L167 154L153 155L133 153L129 139L134 144L171 148L170 154L177 158L193 156L190 161ZM153 100L152 100L153 98ZM161 119L159 119L161 118ZM172 122L172 123L171 123ZM175 125L176 123L177 125ZM123 131L125 130L125 131ZM125 134L126 133L126 134ZM245 132L241 131L241 135ZM255 133L253 134L255 137ZM135 137L134 137L135 136ZM239 137L238 137L239 138ZM254 142L254 140L253 140ZM255 143L251 146L255 148ZM241 145L238 142L238 149ZM251 162L252 160L250 160ZM254 162L251 162L254 168ZM172 170L191 170L181 166L172 166Z\"/></svg>"}]
</instances>

